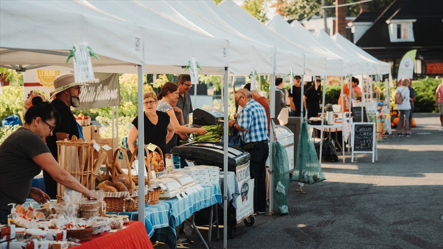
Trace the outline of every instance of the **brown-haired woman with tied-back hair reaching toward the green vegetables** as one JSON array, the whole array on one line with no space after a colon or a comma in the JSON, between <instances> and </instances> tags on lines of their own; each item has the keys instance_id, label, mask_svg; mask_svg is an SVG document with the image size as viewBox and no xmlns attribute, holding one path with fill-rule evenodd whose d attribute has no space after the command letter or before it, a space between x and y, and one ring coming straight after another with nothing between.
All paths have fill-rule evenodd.
<instances>
[{"instance_id":1,"label":"brown-haired woman with tied-back hair reaching toward the green vegetables","mask_svg":"<svg viewBox=\"0 0 443 249\"><path fill-rule=\"evenodd\" d=\"M157 95L159 100L157 105L157 110L168 114L172 124L174 124L175 132L180 132L180 133L197 132L200 135L206 134L207 131L204 128L194 128L185 125L180 125L177 116L175 116L174 108L172 107L174 101L177 101L178 95L179 95L178 86L175 85L174 83L166 82L166 84L164 84L163 87L161 88L160 93L158 93ZM163 153L170 153L171 149L175 146L177 146L177 134L174 134L171 141L166 146L166 152Z\"/></svg>"}]
</instances>

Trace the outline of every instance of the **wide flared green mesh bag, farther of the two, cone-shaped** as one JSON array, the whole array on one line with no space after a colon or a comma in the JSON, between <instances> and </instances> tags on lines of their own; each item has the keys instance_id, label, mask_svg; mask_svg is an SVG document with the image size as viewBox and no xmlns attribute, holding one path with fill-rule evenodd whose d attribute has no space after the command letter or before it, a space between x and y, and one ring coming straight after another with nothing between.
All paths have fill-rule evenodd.
<instances>
[{"instance_id":1,"label":"wide flared green mesh bag, farther of the two, cone-shaped","mask_svg":"<svg viewBox=\"0 0 443 249\"><path fill-rule=\"evenodd\" d=\"M295 168L294 172L292 172L291 180L306 184L314 184L325 180L306 122L303 123L300 130L297 155L295 156Z\"/></svg>"}]
</instances>

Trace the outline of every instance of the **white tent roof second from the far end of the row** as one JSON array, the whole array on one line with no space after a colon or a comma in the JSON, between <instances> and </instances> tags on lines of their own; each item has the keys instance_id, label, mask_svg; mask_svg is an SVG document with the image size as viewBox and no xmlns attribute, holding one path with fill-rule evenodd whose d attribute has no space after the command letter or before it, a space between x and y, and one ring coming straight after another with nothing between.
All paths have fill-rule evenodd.
<instances>
[{"instance_id":1,"label":"white tent roof second from the far end of the row","mask_svg":"<svg viewBox=\"0 0 443 249\"><path fill-rule=\"evenodd\" d=\"M347 58L351 61L351 68L347 74L366 74L368 71L368 64L372 62L367 62L359 59L355 56L355 53L342 48L337 44L325 31L319 30L314 34L316 39L321 42L324 46L328 47L331 51L334 51L337 54L340 54L344 58Z\"/></svg>"}]
</instances>

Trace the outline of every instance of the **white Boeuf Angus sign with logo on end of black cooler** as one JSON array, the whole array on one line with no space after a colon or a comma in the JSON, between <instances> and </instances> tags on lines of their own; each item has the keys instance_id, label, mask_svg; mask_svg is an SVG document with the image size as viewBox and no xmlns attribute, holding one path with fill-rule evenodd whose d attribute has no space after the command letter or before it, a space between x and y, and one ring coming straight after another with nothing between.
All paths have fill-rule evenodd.
<instances>
[{"instance_id":1,"label":"white Boeuf Angus sign with logo on end of black cooler","mask_svg":"<svg viewBox=\"0 0 443 249\"><path fill-rule=\"evenodd\" d=\"M251 179L249 162L236 168L237 184L240 195L237 197L237 223L254 212L254 180Z\"/></svg>"}]
</instances>

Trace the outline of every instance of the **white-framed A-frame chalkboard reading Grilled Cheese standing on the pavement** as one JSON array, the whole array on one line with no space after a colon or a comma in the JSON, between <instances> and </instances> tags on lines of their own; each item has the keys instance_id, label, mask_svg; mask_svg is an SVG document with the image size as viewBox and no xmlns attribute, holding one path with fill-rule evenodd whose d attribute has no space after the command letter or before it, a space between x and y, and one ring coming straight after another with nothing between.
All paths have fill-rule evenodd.
<instances>
[{"instance_id":1,"label":"white-framed A-frame chalkboard reading Grilled Cheese standing on the pavement","mask_svg":"<svg viewBox=\"0 0 443 249\"><path fill-rule=\"evenodd\" d=\"M354 161L354 153L371 153L373 155L372 162L374 162L374 156L377 157L377 142L375 139L375 123L353 123L351 133L351 162Z\"/></svg>"}]
</instances>

